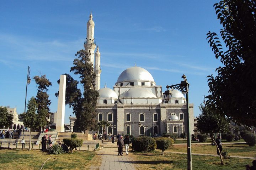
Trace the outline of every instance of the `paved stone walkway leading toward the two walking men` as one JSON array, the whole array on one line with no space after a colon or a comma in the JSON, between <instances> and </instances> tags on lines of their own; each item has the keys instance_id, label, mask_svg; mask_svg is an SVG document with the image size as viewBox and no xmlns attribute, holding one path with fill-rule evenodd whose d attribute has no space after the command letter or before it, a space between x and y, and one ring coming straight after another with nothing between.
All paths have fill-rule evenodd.
<instances>
[{"instance_id":1,"label":"paved stone walkway leading toward the two walking men","mask_svg":"<svg viewBox=\"0 0 256 170\"><path fill-rule=\"evenodd\" d=\"M125 148L124 148L125 150ZM131 153L129 153L131 154ZM97 151L97 155L102 155L100 170L136 170L133 166L133 159L126 155L124 152L123 156L118 156L117 147L101 148ZM90 168L95 169L95 168Z\"/></svg>"}]
</instances>

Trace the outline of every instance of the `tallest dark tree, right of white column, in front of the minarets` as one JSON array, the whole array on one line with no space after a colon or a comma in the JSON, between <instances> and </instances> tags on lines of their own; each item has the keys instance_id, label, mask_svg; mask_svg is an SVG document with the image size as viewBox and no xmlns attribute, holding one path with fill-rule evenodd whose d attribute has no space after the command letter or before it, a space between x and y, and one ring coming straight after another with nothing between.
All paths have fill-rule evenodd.
<instances>
[{"instance_id":1,"label":"tallest dark tree, right of white column, in front of the minarets","mask_svg":"<svg viewBox=\"0 0 256 170\"><path fill-rule=\"evenodd\" d=\"M65 74L67 76L65 103L69 107L73 107L73 113L76 115L75 130L87 131L96 129L97 113L95 108L99 94L95 90L96 74L93 71L92 63L89 63L90 53L80 50L75 56L78 58L74 60L74 66L70 68L70 72L79 75L83 92L78 89L79 82L74 80L69 74ZM58 96L57 93L55 95Z\"/></svg>"}]
</instances>

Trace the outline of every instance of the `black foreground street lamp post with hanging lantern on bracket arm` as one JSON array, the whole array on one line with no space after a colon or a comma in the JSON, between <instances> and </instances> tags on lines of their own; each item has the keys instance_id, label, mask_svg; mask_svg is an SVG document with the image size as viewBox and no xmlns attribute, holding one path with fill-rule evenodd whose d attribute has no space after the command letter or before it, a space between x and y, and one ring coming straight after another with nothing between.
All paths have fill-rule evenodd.
<instances>
[{"instance_id":1,"label":"black foreground street lamp post with hanging lantern on bracket arm","mask_svg":"<svg viewBox=\"0 0 256 170\"><path fill-rule=\"evenodd\" d=\"M189 106L188 106L188 87L190 84L187 83L186 76L183 74L183 81L180 84L175 84L171 86L166 86L167 90L164 92L165 103L168 103L170 100L170 96L172 95L169 88L171 90L177 89L182 92L182 94L186 94L186 104L187 104L187 169L192 170L192 159L191 159L191 136L190 136L190 121L189 121Z\"/></svg>"}]
</instances>

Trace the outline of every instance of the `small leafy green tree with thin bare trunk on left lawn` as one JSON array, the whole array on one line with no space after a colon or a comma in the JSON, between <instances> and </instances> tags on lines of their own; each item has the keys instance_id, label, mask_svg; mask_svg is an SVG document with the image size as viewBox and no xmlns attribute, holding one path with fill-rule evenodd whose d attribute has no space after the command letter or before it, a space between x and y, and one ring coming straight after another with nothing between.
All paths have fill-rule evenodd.
<instances>
[{"instance_id":1,"label":"small leafy green tree with thin bare trunk on left lawn","mask_svg":"<svg viewBox=\"0 0 256 170\"><path fill-rule=\"evenodd\" d=\"M28 151L31 151L31 129L35 129L38 127L37 125L37 107L38 104L36 102L36 98L31 97L27 104L27 112L20 114L24 125L30 128L30 142Z\"/></svg>"}]
</instances>

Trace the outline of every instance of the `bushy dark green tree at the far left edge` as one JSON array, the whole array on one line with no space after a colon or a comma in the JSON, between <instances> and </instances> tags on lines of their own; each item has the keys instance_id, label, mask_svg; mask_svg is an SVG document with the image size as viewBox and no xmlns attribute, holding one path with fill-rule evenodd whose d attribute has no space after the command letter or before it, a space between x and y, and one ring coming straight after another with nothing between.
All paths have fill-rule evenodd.
<instances>
[{"instance_id":1,"label":"bushy dark green tree at the far left edge","mask_svg":"<svg viewBox=\"0 0 256 170\"><path fill-rule=\"evenodd\" d=\"M0 107L0 128L12 126L13 115L9 114L6 107Z\"/></svg>"}]
</instances>

